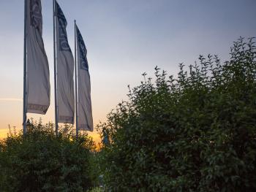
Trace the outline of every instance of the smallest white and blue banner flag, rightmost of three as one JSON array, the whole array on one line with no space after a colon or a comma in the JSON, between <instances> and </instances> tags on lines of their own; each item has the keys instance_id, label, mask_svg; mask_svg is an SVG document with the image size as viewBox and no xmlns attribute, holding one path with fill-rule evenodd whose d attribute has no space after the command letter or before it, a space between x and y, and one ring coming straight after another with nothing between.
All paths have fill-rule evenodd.
<instances>
[{"instance_id":1,"label":"smallest white and blue banner flag, rightmost of three","mask_svg":"<svg viewBox=\"0 0 256 192\"><path fill-rule=\"evenodd\" d=\"M78 50L78 120L77 129L93 131L93 118L91 112L91 80L87 61L86 45L83 37L75 25L76 49Z\"/></svg>"}]
</instances>

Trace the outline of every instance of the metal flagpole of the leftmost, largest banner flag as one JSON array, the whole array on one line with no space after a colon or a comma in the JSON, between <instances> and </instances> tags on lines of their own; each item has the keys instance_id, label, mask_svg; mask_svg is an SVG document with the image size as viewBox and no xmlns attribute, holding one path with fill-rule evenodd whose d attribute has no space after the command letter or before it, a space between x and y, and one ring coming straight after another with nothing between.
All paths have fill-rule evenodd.
<instances>
[{"instance_id":1,"label":"metal flagpole of the leftmost, largest banner flag","mask_svg":"<svg viewBox=\"0 0 256 192\"><path fill-rule=\"evenodd\" d=\"M24 1L24 73L23 73L23 135L26 134L26 39L27 39L27 0Z\"/></svg>"}]
</instances>

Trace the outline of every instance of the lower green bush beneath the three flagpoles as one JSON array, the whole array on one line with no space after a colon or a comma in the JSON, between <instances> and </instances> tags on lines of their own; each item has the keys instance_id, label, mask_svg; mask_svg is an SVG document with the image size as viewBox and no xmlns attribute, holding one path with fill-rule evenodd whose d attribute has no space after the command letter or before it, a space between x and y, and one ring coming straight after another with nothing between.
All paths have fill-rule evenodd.
<instances>
[{"instance_id":1,"label":"lower green bush beneath the three flagpoles","mask_svg":"<svg viewBox=\"0 0 256 192\"><path fill-rule=\"evenodd\" d=\"M32 123L25 137L10 132L0 144L0 191L86 191L94 186L94 143L65 126Z\"/></svg>"}]
</instances>

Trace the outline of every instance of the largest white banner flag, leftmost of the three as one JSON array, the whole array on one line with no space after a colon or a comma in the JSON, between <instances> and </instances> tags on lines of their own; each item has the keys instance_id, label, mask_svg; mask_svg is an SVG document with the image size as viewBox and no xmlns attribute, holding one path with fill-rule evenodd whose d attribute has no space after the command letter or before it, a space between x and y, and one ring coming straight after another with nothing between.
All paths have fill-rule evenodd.
<instances>
[{"instance_id":1,"label":"largest white banner flag, leftmost of the three","mask_svg":"<svg viewBox=\"0 0 256 192\"><path fill-rule=\"evenodd\" d=\"M48 58L42 41L40 0L27 1L27 112L45 114L50 105Z\"/></svg>"}]
</instances>

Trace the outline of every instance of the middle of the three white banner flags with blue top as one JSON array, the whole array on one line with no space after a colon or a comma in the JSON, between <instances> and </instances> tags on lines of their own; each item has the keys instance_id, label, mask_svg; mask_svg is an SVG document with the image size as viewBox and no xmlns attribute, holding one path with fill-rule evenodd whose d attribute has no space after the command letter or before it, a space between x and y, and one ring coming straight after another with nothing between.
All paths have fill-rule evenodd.
<instances>
[{"instance_id":1,"label":"middle of the three white banner flags with blue top","mask_svg":"<svg viewBox=\"0 0 256 192\"><path fill-rule=\"evenodd\" d=\"M74 123L74 58L67 40L67 20L57 2L55 7L59 123Z\"/></svg>"}]
</instances>

